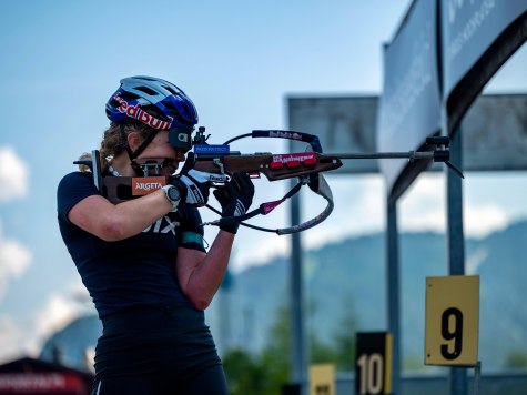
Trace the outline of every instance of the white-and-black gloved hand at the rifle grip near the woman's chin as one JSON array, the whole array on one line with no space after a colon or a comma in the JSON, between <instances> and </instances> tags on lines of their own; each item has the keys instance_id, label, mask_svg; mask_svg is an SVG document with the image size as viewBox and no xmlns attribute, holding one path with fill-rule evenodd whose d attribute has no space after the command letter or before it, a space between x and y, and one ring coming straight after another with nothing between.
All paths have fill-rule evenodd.
<instances>
[{"instance_id":1,"label":"white-and-black gloved hand at the rifle grip near the woman's chin","mask_svg":"<svg viewBox=\"0 0 527 395\"><path fill-rule=\"evenodd\" d=\"M180 190L181 201L202 207L209 201L209 190L212 186L211 174L194 170L193 166L194 153L189 152L180 174L171 181L171 184Z\"/></svg>"}]
</instances>

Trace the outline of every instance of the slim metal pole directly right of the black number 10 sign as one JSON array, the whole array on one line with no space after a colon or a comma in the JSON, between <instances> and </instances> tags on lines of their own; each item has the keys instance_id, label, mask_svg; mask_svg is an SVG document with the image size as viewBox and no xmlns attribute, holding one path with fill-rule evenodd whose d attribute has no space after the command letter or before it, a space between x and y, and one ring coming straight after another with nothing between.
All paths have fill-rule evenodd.
<instances>
[{"instance_id":1,"label":"slim metal pole directly right of the black number 10 sign","mask_svg":"<svg viewBox=\"0 0 527 395\"><path fill-rule=\"evenodd\" d=\"M386 306L388 331L393 338L392 387L393 394L399 394L401 381L401 322L399 322L399 253L397 234L396 201L387 203L387 260L386 260Z\"/></svg>"}]
</instances>

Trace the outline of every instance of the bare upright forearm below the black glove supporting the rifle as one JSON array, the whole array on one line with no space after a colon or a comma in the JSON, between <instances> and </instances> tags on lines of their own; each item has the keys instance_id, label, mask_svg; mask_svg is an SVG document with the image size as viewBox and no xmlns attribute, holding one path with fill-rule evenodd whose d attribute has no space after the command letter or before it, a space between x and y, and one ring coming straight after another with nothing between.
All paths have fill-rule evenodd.
<instances>
[{"instance_id":1,"label":"bare upright forearm below the black glove supporting the rifle","mask_svg":"<svg viewBox=\"0 0 527 395\"><path fill-rule=\"evenodd\" d=\"M231 256L234 234L220 231L209 253L192 265L178 257L178 276L183 293L199 310L205 310L222 284Z\"/></svg>"}]
</instances>

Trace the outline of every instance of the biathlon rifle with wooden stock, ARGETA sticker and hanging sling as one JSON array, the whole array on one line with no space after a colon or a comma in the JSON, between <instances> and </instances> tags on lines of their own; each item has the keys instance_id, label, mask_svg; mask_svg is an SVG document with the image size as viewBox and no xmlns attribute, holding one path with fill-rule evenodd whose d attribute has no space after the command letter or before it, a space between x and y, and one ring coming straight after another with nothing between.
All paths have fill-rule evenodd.
<instances>
[{"instance_id":1,"label":"biathlon rifle with wooden stock, ARGETA sticker and hanging sling","mask_svg":"<svg viewBox=\"0 0 527 395\"><path fill-rule=\"evenodd\" d=\"M257 209L242 216L222 217L216 221L203 223L203 225L219 226L222 224L240 222L244 226L259 231L273 232L278 235L302 232L311 229L330 216L334 207L332 191L321 173L341 168L343 164L342 160L345 159L406 158L409 161L432 159L435 162L444 162L463 178L463 174L448 162L449 139L447 136L428 138L426 143L433 148L430 151L342 154L324 154L322 153L322 146L316 135L294 131L254 130L251 133L235 136L223 144L209 144L206 143L209 138L210 134L205 136L205 128L199 128L199 131L193 139L195 158L194 169L211 173L211 182L213 184L219 185L224 183L230 175L236 172L245 172L252 178L264 174L271 182L294 178L297 178L298 182L290 192L277 201L262 203ZM268 152L242 154L239 151L231 151L230 144L233 141L243 138L278 138L295 140L307 143L311 146L311 151L287 154L272 154ZM92 151L92 161L90 163L74 163L89 165L92 169L95 185L101 191L101 194L115 204L151 193L163 185L166 185L171 179L174 178L174 175L161 176L161 164L156 162L139 163L143 171L143 176L102 176L99 169L99 152L97 150ZM315 217L301 224L275 230L243 222L255 215L267 215L276 206L296 194L303 185L310 186L313 192L324 198L327 202L326 207ZM211 205L207 205L207 207L216 214L221 214Z\"/></svg>"}]
</instances>

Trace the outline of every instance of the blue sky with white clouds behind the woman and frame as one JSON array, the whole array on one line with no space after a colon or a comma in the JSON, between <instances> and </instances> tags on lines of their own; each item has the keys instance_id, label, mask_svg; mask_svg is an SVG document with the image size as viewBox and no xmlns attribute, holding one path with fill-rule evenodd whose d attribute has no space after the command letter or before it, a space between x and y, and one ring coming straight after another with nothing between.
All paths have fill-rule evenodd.
<instances>
[{"instance_id":1,"label":"blue sky with white clouds behind the woman and frame","mask_svg":"<svg viewBox=\"0 0 527 395\"><path fill-rule=\"evenodd\" d=\"M72 316L92 311L57 225L55 191L72 162L99 146L104 104L124 77L166 79L194 101L210 142L287 129L288 95L382 91L382 45L409 0L23 1L0 13L0 363L36 355ZM524 45L525 47L525 45ZM523 48L489 92L525 92ZM308 131L306 131L308 132ZM242 152L285 152L283 141ZM233 146L234 149L234 146ZM383 231L382 175L328 175L334 213L302 237L308 249ZM527 219L525 172L466 174L465 232L482 237ZM255 202L286 185L256 180ZM305 198L304 198L305 196ZM303 193L303 217L324 202ZM399 200L403 231L445 231L444 174L422 175ZM203 217L213 219L202 211ZM287 206L257 224L287 224ZM254 222L256 223L256 222ZM212 242L215 229L206 229ZM288 252L288 239L242 229L233 271Z\"/></svg>"}]
</instances>

